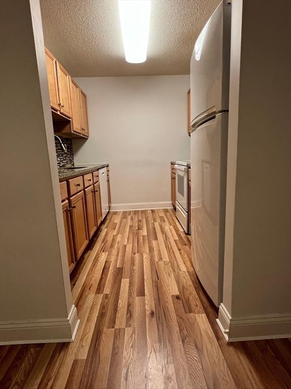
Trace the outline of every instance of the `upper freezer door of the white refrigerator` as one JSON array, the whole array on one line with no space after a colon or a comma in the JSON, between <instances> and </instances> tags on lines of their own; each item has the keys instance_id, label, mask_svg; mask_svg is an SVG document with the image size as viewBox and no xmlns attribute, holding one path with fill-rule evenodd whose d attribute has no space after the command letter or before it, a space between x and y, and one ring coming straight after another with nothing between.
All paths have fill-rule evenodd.
<instances>
[{"instance_id":1,"label":"upper freezer door of the white refrigerator","mask_svg":"<svg viewBox=\"0 0 291 389\"><path fill-rule=\"evenodd\" d=\"M191 126L228 109L231 6L221 2L200 33L190 64Z\"/></svg>"}]
</instances>

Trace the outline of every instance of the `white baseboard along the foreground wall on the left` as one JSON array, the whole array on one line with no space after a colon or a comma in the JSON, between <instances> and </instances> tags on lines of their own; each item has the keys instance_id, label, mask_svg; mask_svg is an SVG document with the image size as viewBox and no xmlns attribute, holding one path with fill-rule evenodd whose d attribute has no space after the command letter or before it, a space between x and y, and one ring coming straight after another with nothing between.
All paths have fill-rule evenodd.
<instances>
[{"instance_id":1,"label":"white baseboard along the foreground wall on the left","mask_svg":"<svg viewBox=\"0 0 291 389\"><path fill-rule=\"evenodd\" d=\"M0 345L72 342L80 320L72 306L68 318L0 323Z\"/></svg>"}]
</instances>

